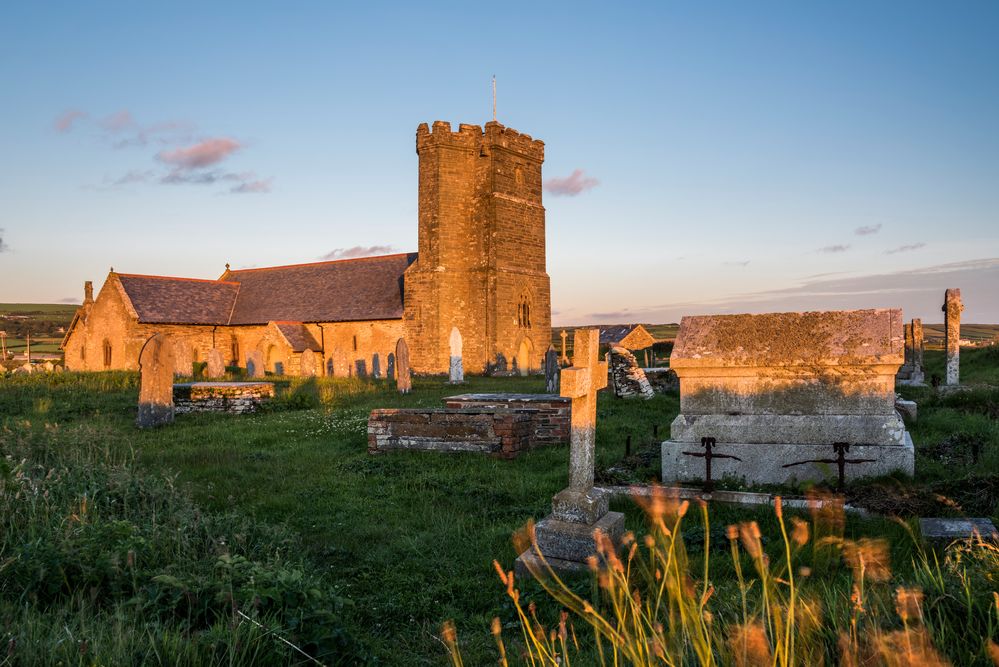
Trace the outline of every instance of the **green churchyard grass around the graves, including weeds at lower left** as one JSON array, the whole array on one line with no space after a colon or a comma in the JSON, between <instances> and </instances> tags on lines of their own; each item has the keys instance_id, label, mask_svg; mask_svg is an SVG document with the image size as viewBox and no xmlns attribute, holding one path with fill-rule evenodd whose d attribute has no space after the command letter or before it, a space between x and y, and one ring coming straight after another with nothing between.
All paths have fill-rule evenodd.
<instances>
[{"instance_id":1,"label":"green churchyard grass around the graves, including weeds at lower left","mask_svg":"<svg viewBox=\"0 0 999 667\"><path fill-rule=\"evenodd\" d=\"M990 354L963 355L964 376L999 380L999 358ZM942 364L939 356L927 354L930 370ZM0 380L0 644L13 640L11 664L301 659L280 636L324 664L441 665L448 662L441 623L453 619L465 664L484 665L496 660L494 617L506 628L511 655L519 655L516 611L492 561L511 567L511 535L548 513L552 494L566 483L566 447L513 461L373 457L365 434L372 408L439 405L454 388L422 378L403 397L384 381L281 384L282 398L265 414L184 415L170 427L138 431L134 374ZM540 378L470 378L461 391L541 389ZM938 610L926 621L933 643L955 664L987 664L983 637L999 639L991 598L999 561L967 554L960 566L941 561L930 577L908 531L916 514L999 520L999 395L906 393L920 400L919 422L911 425L916 480L848 490L852 502L907 521L847 520L846 537L891 543L891 579L871 584L867 595L877 603L863 625L897 628L895 587L918 585L927 608L932 601ZM635 402L602 394L598 480L655 479L653 427L668 432L677 411L675 395ZM633 454L626 457L629 435ZM969 458L972 442L981 451L978 463ZM614 508L626 513L629 528L643 530L643 513L630 501ZM780 561L771 509L713 505L709 517L711 543L723 546L725 525L757 521L769 536L770 558ZM700 562L704 524L697 512L685 519L683 535L691 562ZM726 548L706 554L720 624L732 622L739 608ZM802 584L803 594L826 605L814 641L829 660L838 633L852 622L849 572L834 563ZM692 576L700 576L697 568ZM574 586L591 595L585 580ZM538 604L545 624L557 621L558 606L536 584L519 581L518 588L525 603ZM577 619L575 627L581 654L574 664L596 664L585 624Z\"/></svg>"}]
</instances>

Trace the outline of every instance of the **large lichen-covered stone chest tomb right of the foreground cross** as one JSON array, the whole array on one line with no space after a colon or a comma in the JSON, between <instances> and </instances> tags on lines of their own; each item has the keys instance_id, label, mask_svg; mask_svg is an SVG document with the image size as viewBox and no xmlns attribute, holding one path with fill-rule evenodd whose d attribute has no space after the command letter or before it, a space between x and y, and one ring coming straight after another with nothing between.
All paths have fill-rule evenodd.
<instances>
[{"instance_id":1,"label":"large lichen-covered stone chest tomb right of the foreground cross","mask_svg":"<svg viewBox=\"0 0 999 667\"><path fill-rule=\"evenodd\" d=\"M895 411L902 345L895 309L684 317L663 480L704 480L703 439L715 479L911 475L912 439Z\"/></svg>"}]
</instances>

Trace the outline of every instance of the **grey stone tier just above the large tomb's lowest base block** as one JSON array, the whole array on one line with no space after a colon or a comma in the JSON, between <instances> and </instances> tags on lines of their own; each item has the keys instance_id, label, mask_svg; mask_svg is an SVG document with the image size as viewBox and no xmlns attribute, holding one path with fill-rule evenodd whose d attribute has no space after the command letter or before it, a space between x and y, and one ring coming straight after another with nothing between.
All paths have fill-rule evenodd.
<instances>
[{"instance_id":1,"label":"grey stone tier just above the large tomb's lowest base block","mask_svg":"<svg viewBox=\"0 0 999 667\"><path fill-rule=\"evenodd\" d=\"M701 438L719 443L833 442L902 446L905 422L889 415L690 415L680 414L670 425L670 439L700 444Z\"/></svg>"}]
</instances>

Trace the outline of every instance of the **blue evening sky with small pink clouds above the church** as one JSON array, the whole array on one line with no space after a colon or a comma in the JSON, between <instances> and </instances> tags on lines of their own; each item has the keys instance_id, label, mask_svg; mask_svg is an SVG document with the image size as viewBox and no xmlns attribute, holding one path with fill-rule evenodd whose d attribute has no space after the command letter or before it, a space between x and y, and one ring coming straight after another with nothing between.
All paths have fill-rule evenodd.
<instances>
[{"instance_id":1,"label":"blue evening sky with small pink clouds above the church","mask_svg":"<svg viewBox=\"0 0 999 667\"><path fill-rule=\"evenodd\" d=\"M947 287L999 322L997 34L995 2L6 3L0 301L413 250L416 126L489 120L495 74L546 143L556 323L935 322Z\"/></svg>"}]
</instances>

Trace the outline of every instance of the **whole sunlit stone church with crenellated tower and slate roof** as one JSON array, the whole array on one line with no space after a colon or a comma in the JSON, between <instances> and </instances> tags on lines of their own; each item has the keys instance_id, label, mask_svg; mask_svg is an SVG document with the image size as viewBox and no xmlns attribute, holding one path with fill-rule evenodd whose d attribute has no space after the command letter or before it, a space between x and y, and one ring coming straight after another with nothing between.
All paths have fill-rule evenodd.
<instances>
[{"instance_id":1,"label":"whole sunlit stone church with crenellated tower and slate roof","mask_svg":"<svg viewBox=\"0 0 999 667\"><path fill-rule=\"evenodd\" d=\"M246 367L299 375L311 350L328 375L384 375L400 338L417 373L446 373L453 329L466 372L541 366L551 342L544 143L496 121L426 123L417 252L226 270L216 280L118 273L84 301L62 342L68 370L134 370L155 333L178 371L220 350Z\"/></svg>"}]
</instances>

